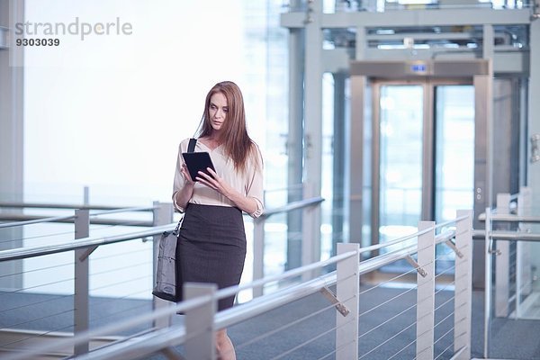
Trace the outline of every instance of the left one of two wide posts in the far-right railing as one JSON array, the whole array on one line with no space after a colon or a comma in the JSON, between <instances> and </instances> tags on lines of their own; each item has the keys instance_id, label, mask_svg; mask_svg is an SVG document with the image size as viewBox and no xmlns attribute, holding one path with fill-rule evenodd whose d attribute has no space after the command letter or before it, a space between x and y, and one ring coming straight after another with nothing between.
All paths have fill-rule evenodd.
<instances>
[{"instance_id":1,"label":"left one of two wide posts in the far-right railing","mask_svg":"<svg viewBox=\"0 0 540 360\"><path fill-rule=\"evenodd\" d=\"M497 194L497 214L508 215L510 213L510 194ZM508 229L508 224L502 225ZM502 227L499 225L499 229ZM509 292L510 292L510 242L497 240L497 254L495 258L495 316L506 318L509 316Z\"/></svg>"}]
</instances>

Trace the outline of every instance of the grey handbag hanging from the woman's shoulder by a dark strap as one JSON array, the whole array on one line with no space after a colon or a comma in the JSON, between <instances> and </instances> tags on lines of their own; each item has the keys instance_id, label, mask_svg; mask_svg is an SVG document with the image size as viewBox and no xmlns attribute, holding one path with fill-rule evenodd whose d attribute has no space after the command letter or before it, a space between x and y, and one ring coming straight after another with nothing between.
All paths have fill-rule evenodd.
<instances>
[{"instance_id":1,"label":"grey handbag hanging from the woman's shoulder by a dark strap","mask_svg":"<svg viewBox=\"0 0 540 360\"><path fill-rule=\"evenodd\" d=\"M193 152L196 142L197 139L189 140L187 152ZM159 238L156 284L152 294L167 302L180 301L178 296L180 292L176 292L176 243L178 242L178 234L183 219L184 217L178 221L174 231L165 231Z\"/></svg>"}]
</instances>

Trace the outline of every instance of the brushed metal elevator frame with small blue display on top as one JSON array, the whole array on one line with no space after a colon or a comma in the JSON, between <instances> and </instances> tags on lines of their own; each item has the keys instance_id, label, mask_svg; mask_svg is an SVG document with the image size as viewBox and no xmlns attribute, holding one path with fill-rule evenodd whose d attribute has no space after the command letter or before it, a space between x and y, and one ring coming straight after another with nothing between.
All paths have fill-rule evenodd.
<instances>
[{"instance_id":1,"label":"brushed metal elevator frame with small blue display on top","mask_svg":"<svg viewBox=\"0 0 540 360\"><path fill-rule=\"evenodd\" d=\"M371 245L379 242L379 194L380 194L380 173L379 173L379 117L378 105L376 100L379 94L373 94L373 101L366 99L366 87L376 81L392 80L400 82L410 82L411 84L424 84L429 81L437 82L457 81L457 83L467 83L474 86L474 122L475 122L475 147L474 147L474 213L481 213L491 199L491 179L492 179L492 160L491 160L491 132L492 132L492 105L491 105L491 63L484 59L467 60L360 60L352 61L350 66L351 78L351 131L349 132L349 143L351 144L351 154L357 156L349 157L349 184L350 197L349 216L356 220L349 220L349 237L362 238L363 228L363 159L364 156L364 123L366 120L365 108L372 107L371 117L373 126L373 154L372 157L372 187L371 187ZM456 84L457 84L456 83ZM425 103L424 112L431 112L426 106L432 104ZM376 122L376 123L375 123ZM426 121L424 121L426 122ZM376 126L375 126L376 125ZM429 129L427 129L429 130ZM432 144L425 143L423 148L423 168L431 166L433 161ZM428 194L427 201L424 201L421 209L421 220L429 219L433 199L431 198L433 181L428 172L424 172L422 179L422 193ZM358 221L357 219L360 219ZM478 220L475 220L476 228L480 227Z\"/></svg>"}]
</instances>

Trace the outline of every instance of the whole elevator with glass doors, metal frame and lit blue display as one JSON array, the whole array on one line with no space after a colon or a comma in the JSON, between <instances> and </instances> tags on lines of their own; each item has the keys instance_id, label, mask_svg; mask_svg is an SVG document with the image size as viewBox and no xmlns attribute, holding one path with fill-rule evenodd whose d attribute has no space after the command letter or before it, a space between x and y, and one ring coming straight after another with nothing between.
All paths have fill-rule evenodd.
<instances>
[{"instance_id":1,"label":"whole elevator with glass doors, metal frame and lit blue display","mask_svg":"<svg viewBox=\"0 0 540 360\"><path fill-rule=\"evenodd\" d=\"M374 245L416 232L420 220L484 211L492 197L492 85L484 59L351 63L350 238ZM437 256L447 260L437 272L452 266L444 247Z\"/></svg>"}]
</instances>

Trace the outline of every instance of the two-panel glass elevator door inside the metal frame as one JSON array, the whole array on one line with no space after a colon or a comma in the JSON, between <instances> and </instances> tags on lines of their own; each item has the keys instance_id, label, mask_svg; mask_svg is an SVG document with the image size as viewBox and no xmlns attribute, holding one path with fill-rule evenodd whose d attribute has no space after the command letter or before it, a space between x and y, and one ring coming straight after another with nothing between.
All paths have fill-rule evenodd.
<instances>
[{"instance_id":1,"label":"two-panel glass elevator door inside the metal frame","mask_svg":"<svg viewBox=\"0 0 540 360\"><path fill-rule=\"evenodd\" d=\"M367 136L373 137L374 166L371 174L369 169L364 172L373 184L372 209L366 209L372 213L371 228L378 229L371 231L372 244L416 232L419 220L451 220L456 210L471 209L473 85L378 81L373 94L372 133ZM385 247L382 253L395 249ZM453 256L446 247L438 247L437 271L451 268ZM399 267L393 266L401 271Z\"/></svg>"}]
</instances>

